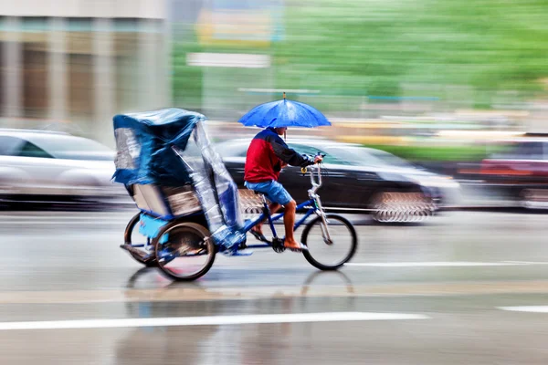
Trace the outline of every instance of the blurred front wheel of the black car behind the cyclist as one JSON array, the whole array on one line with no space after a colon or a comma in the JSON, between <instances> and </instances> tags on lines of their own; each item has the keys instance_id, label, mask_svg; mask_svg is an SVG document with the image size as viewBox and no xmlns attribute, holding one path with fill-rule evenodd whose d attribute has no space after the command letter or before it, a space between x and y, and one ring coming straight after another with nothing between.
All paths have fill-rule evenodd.
<instances>
[{"instance_id":1,"label":"blurred front wheel of the black car behind the cyclist","mask_svg":"<svg viewBox=\"0 0 548 365\"><path fill-rule=\"evenodd\" d=\"M380 224L420 223L436 210L435 204L424 193L382 191L371 201L371 217Z\"/></svg>"}]
</instances>

